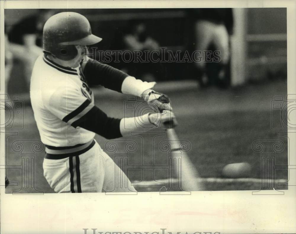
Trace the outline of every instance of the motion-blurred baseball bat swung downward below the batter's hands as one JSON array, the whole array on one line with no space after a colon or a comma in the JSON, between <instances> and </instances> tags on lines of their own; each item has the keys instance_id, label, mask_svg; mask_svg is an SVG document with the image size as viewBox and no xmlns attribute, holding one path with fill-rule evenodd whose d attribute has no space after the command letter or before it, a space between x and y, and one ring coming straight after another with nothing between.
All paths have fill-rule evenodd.
<instances>
[{"instance_id":1,"label":"motion-blurred baseball bat swung downward below the batter's hands","mask_svg":"<svg viewBox=\"0 0 296 234\"><path fill-rule=\"evenodd\" d=\"M177 133L174 128L169 128L166 130L167 137L171 141L172 153L173 151L179 152L180 141L178 139ZM197 178L200 175L197 169L194 167L190 161L186 152L182 151L181 160L181 186L185 191L202 191L204 190L202 184L197 182Z\"/></svg>"}]
</instances>

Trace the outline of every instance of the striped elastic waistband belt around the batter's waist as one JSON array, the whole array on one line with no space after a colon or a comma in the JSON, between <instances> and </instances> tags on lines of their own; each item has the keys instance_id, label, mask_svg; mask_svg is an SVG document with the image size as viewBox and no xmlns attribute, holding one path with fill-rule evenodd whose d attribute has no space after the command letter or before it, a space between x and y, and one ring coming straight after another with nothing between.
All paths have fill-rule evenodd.
<instances>
[{"instance_id":1,"label":"striped elastic waistband belt around the batter's waist","mask_svg":"<svg viewBox=\"0 0 296 234\"><path fill-rule=\"evenodd\" d=\"M77 144L74 146L66 146L66 147L54 147L45 145L45 158L47 159L63 159L67 157L74 157L81 155L91 149L96 142L94 139L85 143L85 144Z\"/></svg>"}]
</instances>

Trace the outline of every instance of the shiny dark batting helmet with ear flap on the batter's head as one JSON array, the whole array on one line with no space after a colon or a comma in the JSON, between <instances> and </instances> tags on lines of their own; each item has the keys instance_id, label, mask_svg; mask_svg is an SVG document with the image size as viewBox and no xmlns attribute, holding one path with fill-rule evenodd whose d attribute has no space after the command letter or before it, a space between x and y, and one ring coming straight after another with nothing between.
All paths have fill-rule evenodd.
<instances>
[{"instance_id":1,"label":"shiny dark batting helmet with ear flap on the batter's head","mask_svg":"<svg viewBox=\"0 0 296 234\"><path fill-rule=\"evenodd\" d=\"M76 12L62 12L50 17L43 28L43 49L69 61L78 51L75 45L92 45L102 38L91 34L89 21Z\"/></svg>"}]
</instances>

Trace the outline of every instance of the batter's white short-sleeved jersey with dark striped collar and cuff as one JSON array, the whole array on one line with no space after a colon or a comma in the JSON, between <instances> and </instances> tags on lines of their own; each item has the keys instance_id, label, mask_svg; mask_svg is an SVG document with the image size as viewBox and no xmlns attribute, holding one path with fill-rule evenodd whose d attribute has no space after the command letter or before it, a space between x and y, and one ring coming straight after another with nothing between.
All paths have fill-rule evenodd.
<instances>
[{"instance_id":1,"label":"batter's white short-sleeved jersey with dark striped collar and cuff","mask_svg":"<svg viewBox=\"0 0 296 234\"><path fill-rule=\"evenodd\" d=\"M36 60L30 85L30 98L41 141L53 147L85 144L95 133L75 121L94 106L94 95L76 69L62 67L44 55Z\"/></svg>"}]
</instances>

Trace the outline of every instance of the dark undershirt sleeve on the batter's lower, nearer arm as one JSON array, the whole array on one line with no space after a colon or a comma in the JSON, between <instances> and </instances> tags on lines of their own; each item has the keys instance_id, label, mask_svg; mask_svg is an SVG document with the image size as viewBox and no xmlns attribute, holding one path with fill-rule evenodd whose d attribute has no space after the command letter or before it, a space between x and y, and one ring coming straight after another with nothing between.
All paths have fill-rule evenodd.
<instances>
[{"instance_id":1,"label":"dark undershirt sleeve on the batter's lower, nearer arm","mask_svg":"<svg viewBox=\"0 0 296 234\"><path fill-rule=\"evenodd\" d=\"M120 133L120 120L108 117L102 110L94 106L71 125L74 128L81 127L92 131L106 139L115 139L122 137Z\"/></svg>"}]
</instances>

